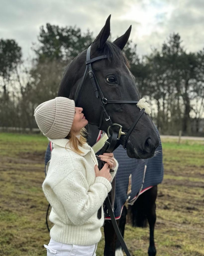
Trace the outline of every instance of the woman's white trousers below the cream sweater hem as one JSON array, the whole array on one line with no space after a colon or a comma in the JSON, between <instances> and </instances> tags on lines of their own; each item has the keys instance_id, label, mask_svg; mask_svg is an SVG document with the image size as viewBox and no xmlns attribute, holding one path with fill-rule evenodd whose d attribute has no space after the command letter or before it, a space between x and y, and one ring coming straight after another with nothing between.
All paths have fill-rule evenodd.
<instances>
[{"instance_id":1,"label":"woman's white trousers below the cream sweater hem","mask_svg":"<svg viewBox=\"0 0 204 256\"><path fill-rule=\"evenodd\" d=\"M92 245L77 245L59 243L52 238L48 245L44 244L47 249L47 256L96 256L97 243Z\"/></svg>"}]
</instances>

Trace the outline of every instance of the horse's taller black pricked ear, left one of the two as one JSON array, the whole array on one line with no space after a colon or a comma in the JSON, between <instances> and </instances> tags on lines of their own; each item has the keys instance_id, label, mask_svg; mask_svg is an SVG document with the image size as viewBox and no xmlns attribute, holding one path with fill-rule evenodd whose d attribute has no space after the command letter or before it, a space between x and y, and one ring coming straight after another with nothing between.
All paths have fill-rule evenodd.
<instances>
[{"instance_id":1,"label":"horse's taller black pricked ear, left one of the two","mask_svg":"<svg viewBox=\"0 0 204 256\"><path fill-rule=\"evenodd\" d=\"M98 36L93 41L92 49L95 48L98 50L103 50L105 42L107 41L108 37L110 36L110 16L111 16L111 14L108 16L108 18L106 20L106 24L101 29Z\"/></svg>"}]
</instances>

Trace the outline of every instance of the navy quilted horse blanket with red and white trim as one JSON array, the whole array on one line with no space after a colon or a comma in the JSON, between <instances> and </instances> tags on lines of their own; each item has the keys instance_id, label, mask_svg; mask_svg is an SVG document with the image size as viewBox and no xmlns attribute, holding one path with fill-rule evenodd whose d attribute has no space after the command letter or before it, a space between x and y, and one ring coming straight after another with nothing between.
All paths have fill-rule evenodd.
<instances>
[{"instance_id":1,"label":"navy quilted horse blanket with red and white trim","mask_svg":"<svg viewBox=\"0 0 204 256\"><path fill-rule=\"evenodd\" d=\"M119 163L116 179L116 194L114 201L114 216L121 217L125 204L131 204L147 189L158 185L163 180L162 145L160 144L154 157L149 159L135 159L127 156L126 150L120 145L114 150L114 157ZM96 141L96 140L95 140ZM45 166L50 160L52 144L49 143L45 153ZM110 219L106 205L104 206L105 219Z\"/></svg>"}]
</instances>

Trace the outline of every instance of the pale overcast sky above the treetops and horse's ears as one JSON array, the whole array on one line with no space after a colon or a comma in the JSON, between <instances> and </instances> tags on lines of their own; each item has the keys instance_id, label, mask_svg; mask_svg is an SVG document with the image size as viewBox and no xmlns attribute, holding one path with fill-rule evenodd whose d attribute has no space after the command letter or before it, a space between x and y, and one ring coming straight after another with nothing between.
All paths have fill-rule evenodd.
<instances>
[{"instance_id":1,"label":"pale overcast sky above the treetops and horse's ears","mask_svg":"<svg viewBox=\"0 0 204 256\"><path fill-rule=\"evenodd\" d=\"M97 36L111 14L112 39L132 24L139 55L161 47L173 32L187 51L198 51L204 47L203 13L204 0L0 0L0 37L15 39L27 58L41 25L76 25Z\"/></svg>"}]
</instances>

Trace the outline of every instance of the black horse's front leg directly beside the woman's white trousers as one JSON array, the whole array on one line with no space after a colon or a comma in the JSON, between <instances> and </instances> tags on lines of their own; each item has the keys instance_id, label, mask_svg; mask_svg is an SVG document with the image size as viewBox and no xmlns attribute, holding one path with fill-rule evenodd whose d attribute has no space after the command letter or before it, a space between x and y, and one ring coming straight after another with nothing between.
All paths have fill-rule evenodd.
<instances>
[{"instance_id":1,"label":"black horse's front leg directly beside the woman's white trousers","mask_svg":"<svg viewBox=\"0 0 204 256\"><path fill-rule=\"evenodd\" d=\"M117 220L119 225L119 220ZM117 235L111 220L104 222L105 248L104 256L115 256Z\"/></svg>"}]
</instances>

